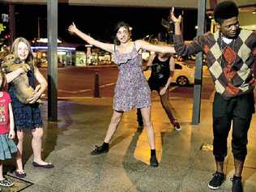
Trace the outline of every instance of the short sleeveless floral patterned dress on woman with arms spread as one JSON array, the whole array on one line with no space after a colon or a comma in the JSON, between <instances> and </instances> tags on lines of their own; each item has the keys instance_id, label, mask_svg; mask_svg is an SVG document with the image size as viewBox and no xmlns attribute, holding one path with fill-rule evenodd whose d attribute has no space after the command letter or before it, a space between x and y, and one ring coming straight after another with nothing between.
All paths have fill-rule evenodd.
<instances>
[{"instance_id":1,"label":"short sleeveless floral patterned dress on woman with arms spread","mask_svg":"<svg viewBox=\"0 0 256 192\"><path fill-rule=\"evenodd\" d=\"M119 69L113 99L113 109L129 111L151 105L151 92L143 75L142 56L135 45L130 53L120 53L115 49L113 60Z\"/></svg>"}]
</instances>

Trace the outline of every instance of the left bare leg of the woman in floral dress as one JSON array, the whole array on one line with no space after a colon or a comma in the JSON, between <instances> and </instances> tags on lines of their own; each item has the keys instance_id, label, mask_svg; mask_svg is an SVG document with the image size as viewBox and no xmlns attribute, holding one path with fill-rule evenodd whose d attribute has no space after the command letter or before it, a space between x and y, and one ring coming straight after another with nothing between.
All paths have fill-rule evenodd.
<instances>
[{"instance_id":1,"label":"left bare leg of the woman in floral dress","mask_svg":"<svg viewBox=\"0 0 256 192\"><path fill-rule=\"evenodd\" d=\"M112 115L111 121L109 123L109 128L108 128L107 134L105 136L105 140L104 140L105 143L109 143L113 134L117 130L117 126L122 119L122 115L123 115L123 112L113 111L113 115Z\"/></svg>"}]
</instances>

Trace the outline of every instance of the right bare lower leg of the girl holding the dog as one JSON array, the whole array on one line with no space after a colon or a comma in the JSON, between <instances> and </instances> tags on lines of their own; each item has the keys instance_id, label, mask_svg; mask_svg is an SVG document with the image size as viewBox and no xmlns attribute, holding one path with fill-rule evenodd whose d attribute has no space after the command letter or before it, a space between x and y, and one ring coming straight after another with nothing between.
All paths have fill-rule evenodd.
<instances>
[{"instance_id":1,"label":"right bare lower leg of the girl holding the dog","mask_svg":"<svg viewBox=\"0 0 256 192\"><path fill-rule=\"evenodd\" d=\"M42 128L36 128L34 130L32 130L32 150L33 150L33 154L34 154L34 161L37 164L49 164L46 163L44 160L42 160L41 158L41 146L42 146L42 137L44 134L44 130Z\"/></svg>"}]
</instances>

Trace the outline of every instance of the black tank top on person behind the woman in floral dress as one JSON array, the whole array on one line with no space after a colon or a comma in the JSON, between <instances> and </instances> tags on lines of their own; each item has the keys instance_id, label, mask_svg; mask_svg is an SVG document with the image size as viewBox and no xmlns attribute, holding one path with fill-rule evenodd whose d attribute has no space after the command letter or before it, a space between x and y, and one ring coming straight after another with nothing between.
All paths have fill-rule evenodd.
<instances>
[{"instance_id":1,"label":"black tank top on person behind the woman in floral dress","mask_svg":"<svg viewBox=\"0 0 256 192\"><path fill-rule=\"evenodd\" d=\"M166 61L161 62L156 56L152 62L151 66L151 76L149 81L154 83L158 86L164 86L171 74L170 67L169 67L170 58Z\"/></svg>"}]
</instances>

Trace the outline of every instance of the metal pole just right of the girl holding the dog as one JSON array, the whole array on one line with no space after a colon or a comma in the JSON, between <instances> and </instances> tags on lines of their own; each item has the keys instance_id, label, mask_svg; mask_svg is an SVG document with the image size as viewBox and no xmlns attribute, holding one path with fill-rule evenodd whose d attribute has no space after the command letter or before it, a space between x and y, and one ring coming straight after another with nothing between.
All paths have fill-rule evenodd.
<instances>
[{"instance_id":1,"label":"metal pole just right of the girl holding the dog","mask_svg":"<svg viewBox=\"0 0 256 192\"><path fill-rule=\"evenodd\" d=\"M58 1L47 1L48 121L58 120Z\"/></svg>"}]
</instances>

